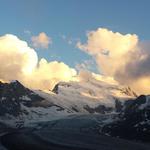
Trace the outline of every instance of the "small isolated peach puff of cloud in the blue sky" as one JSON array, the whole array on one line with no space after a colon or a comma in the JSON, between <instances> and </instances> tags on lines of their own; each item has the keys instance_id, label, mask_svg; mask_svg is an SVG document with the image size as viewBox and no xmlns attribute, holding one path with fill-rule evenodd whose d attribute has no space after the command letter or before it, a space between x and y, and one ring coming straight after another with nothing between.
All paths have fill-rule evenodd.
<instances>
[{"instance_id":1,"label":"small isolated peach puff of cloud in the blue sky","mask_svg":"<svg viewBox=\"0 0 150 150\"><path fill-rule=\"evenodd\" d=\"M52 44L51 37L48 37L44 32L39 33L38 36L32 36L31 40L35 48L47 49L49 44Z\"/></svg>"}]
</instances>

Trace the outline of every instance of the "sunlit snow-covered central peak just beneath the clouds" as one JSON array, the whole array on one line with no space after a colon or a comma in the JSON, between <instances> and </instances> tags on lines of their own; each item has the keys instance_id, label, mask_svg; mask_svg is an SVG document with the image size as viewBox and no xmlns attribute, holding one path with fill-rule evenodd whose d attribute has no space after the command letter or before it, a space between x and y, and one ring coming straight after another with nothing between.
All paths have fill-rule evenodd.
<instances>
[{"instance_id":1,"label":"sunlit snow-covered central peak just beneath the clouds","mask_svg":"<svg viewBox=\"0 0 150 150\"><path fill-rule=\"evenodd\" d=\"M52 92L63 102L68 102L65 106L71 104L77 111L105 114L116 109L117 100L124 102L135 98L135 92L128 89L93 79L88 82L60 82Z\"/></svg>"}]
</instances>

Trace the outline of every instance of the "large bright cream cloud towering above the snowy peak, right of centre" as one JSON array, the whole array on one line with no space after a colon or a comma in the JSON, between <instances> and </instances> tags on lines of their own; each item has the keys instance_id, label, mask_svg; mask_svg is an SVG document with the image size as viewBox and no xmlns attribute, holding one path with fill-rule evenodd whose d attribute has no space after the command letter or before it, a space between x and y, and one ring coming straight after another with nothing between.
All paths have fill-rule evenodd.
<instances>
[{"instance_id":1,"label":"large bright cream cloud towering above the snowy peak, right of centre","mask_svg":"<svg viewBox=\"0 0 150 150\"><path fill-rule=\"evenodd\" d=\"M88 32L87 37L87 43L78 42L77 47L94 56L99 70L111 76L126 63L127 58L123 58L128 52L134 50L138 42L137 35L122 35L103 28Z\"/></svg>"}]
</instances>

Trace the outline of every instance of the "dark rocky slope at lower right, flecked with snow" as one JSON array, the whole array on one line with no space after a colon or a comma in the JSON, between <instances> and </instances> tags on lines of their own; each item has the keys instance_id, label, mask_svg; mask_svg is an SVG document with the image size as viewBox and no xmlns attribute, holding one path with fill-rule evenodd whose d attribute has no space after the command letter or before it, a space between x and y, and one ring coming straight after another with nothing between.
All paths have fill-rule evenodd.
<instances>
[{"instance_id":1,"label":"dark rocky slope at lower right, flecked with snow","mask_svg":"<svg viewBox=\"0 0 150 150\"><path fill-rule=\"evenodd\" d=\"M126 101L118 120L103 127L111 136L150 142L150 97L141 95Z\"/></svg>"}]
</instances>

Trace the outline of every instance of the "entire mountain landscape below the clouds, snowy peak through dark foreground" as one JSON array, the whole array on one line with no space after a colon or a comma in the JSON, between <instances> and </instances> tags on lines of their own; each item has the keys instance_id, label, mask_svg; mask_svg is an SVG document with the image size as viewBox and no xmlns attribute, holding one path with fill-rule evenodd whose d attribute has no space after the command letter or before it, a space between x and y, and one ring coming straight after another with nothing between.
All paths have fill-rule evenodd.
<instances>
[{"instance_id":1,"label":"entire mountain landscape below the clouds, snowy peak through dark foreground","mask_svg":"<svg viewBox=\"0 0 150 150\"><path fill-rule=\"evenodd\" d=\"M60 82L52 91L0 82L0 136L13 150L147 150L150 96L95 79Z\"/></svg>"}]
</instances>

